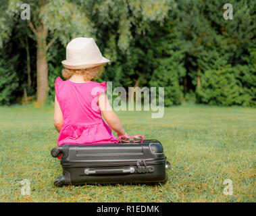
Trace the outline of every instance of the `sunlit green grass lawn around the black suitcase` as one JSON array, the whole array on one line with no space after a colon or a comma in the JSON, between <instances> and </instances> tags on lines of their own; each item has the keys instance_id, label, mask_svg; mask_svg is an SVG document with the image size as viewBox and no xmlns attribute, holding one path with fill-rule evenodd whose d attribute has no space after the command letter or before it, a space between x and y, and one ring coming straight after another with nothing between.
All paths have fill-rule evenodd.
<instances>
[{"instance_id":1,"label":"sunlit green grass lawn around the black suitcase","mask_svg":"<svg viewBox=\"0 0 256 216\"><path fill-rule=\"evenodd\" d=\"M55 188L61 175L51 157L58 133L53 106L0 107L0 202L255 202L256 109L182 105L118 112L130 135L160 140L171 168L165 185L83 185ZM116 134L115 134L116 135ZM30 180L22 196L21 180ZM224 195L224 180L233 195Z\"/></svg>"}]
</instances>

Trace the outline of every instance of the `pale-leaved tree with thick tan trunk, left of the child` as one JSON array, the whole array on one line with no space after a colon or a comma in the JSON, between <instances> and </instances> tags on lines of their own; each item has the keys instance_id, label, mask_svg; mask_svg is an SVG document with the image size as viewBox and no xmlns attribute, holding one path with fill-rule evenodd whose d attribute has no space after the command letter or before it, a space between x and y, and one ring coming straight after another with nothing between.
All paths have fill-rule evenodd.
<instances>
[{"instance_id":1,"label":"pale-leaved tree with thick tan trunk, left of the child","mask_svg":"<svg viewBox=\"0 0 256 216\"><path fill-rule=\"evenodd\" d=\"M20 15L22 1L8 1L5 16ZM93 31L86 14L76 2L68 0L40 0L30 1L30 19L24 20L32 32L32 38L36 41L36 74L37 92L36 99L39 106L47 99L48 64L47 51L58 38L66 45L71 38L78 36L91 36ZM25 6L25 9L28 7ZM8 15L10 14L10 15ZM2 18L3 19L3 18ZM7 30L5 30L7 32ZM28 36L31 36L28 34Z\"/></svg>"}]
</instances>

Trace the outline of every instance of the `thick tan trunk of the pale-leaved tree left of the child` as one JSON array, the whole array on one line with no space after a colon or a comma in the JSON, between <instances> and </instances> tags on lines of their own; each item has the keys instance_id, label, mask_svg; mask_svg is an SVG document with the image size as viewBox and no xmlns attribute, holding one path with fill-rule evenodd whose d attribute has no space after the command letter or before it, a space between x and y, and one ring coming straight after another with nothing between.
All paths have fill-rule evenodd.
<instances>
[{"instance_id":1,"label":"thick tan trunk of the pale-leaved tree left of the child","mask_svg":"<svg viewBox=\"0 0 256 216\"><path fill-rule=\"evenodd\" d=\"M43 106L48 95L48 64L47 64L47 29L41 26L37 31L36 74L37 74L37 105Z\"/></svg>"}]
</instances>

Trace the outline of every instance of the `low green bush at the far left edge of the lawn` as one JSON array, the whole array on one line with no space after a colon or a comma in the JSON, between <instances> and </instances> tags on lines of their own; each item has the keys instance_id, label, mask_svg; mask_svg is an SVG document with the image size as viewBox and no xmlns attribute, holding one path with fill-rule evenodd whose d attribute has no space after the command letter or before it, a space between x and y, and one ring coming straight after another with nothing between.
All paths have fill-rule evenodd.
<instances>
[{"instance_id":1,"label":"low green bush at the far left edge of the lawn","mask_svg":"<svg viewBox=\"0 0 256 216\"><path fill-rule=\"evenodd\" d=\"M14 64L18 59L18 55L7 59L3 54L3 50L0 52L0 105L10 105L17 99L16 94L19 88L19 79L14 69Z\"/></svg>"}]
</instances>

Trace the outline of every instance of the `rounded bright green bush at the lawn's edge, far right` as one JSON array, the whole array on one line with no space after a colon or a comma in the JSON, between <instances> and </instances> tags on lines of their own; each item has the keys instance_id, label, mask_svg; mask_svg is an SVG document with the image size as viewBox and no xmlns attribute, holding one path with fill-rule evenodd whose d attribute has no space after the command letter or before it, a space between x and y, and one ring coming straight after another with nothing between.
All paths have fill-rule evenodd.
<instances>
[{"instance_id":1,"label":"rounded bright green bush at the lawn's edge, far right","mask_svg":"<svg viewBox=\"0 0 256 216\"><path fill-rule=\"evenodd\" d=\"M219 70L207 70L201 75L201 86L197 86L198 101L209 105L255 107L256 88L253 80L256 80L255 74L248 65L233 68L226 65Z\"/></svg>"}]
</instances>

